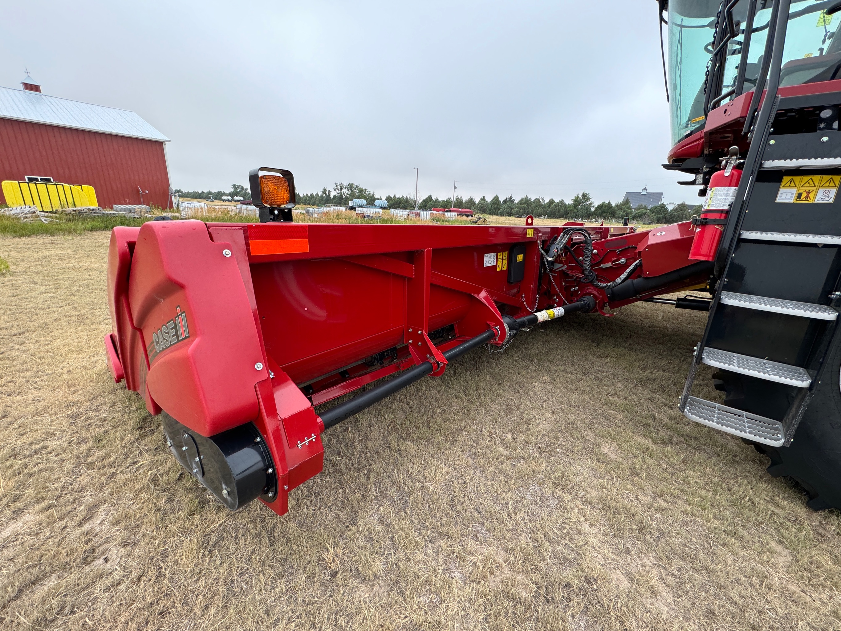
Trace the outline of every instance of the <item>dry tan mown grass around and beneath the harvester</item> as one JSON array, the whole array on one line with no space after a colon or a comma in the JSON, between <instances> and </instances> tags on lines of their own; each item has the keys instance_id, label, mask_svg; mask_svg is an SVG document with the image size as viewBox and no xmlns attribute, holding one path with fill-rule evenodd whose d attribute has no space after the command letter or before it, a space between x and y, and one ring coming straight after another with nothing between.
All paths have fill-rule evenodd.
<instances>
[{"instance_id":1,"label":"dry tan mown grass around and beneath the harvester","mask_svg":"<svg viewBox=\"0 0 841 631\"><path fill-rule=\"evenodd\" d=\"M477 349L232 513L109 379L107 245L0 237L0 628L841 627L841 515L676 410L704 314Z\"/></svg>"}]
</instances>

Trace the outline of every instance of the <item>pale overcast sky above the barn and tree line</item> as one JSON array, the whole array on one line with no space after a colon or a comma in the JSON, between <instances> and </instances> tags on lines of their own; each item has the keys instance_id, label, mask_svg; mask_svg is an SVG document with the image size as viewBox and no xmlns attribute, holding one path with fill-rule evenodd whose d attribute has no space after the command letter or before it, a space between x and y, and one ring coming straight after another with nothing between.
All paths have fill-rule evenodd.
<instances>
[{"instance_id":1,"label":"pale overcast sky above the barn and tree line","mask_svg":"<svg viewBox=\"0 0 841 631\"><path fill-rule=\"evenodd\" d=\"M597 200L696 188L664 171L653 0L6 3L0 85L131 109L174 188L258 166L299 191Z\"/></svg>"}]
</instances>

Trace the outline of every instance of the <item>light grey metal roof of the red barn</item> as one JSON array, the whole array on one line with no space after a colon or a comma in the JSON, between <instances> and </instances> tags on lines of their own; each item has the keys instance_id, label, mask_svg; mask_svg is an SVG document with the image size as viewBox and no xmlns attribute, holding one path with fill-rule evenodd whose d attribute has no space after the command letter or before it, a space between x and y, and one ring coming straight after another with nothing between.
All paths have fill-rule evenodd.
<instances>
[{"instance_id":1,"label":"light grey metal roof of the red barn","mask_svg":"<svg viewBox=\"0 0 841 631\"><path fill-rule=\"evenodd\" d=\"M0 119L169 142L167 136L127 109L107 108L11 87L0 87Z\"/></svg>"}]
</instances>

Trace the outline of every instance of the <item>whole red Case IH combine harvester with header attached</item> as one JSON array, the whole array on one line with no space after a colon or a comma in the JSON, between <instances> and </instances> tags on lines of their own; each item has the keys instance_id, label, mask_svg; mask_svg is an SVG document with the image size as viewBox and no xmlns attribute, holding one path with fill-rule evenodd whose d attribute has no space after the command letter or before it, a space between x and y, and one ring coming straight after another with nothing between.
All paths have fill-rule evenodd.
<instances>
[{"instance_id":1,"label":"whole red Case IH combine harvester with header attached","mask_svg":"<svg viewBox=\"0 0 841 631\"><path fill-rule=\"evenodd\" d=\"M292 173L260 168L259 224L115 228L108 363L161 415L179 462L229 508L259 498L283 515L322 469L322 432L469 350L706 289L711 300L656 299L710 311L680 410L768 453L813 508L841 506L841 2L659 8L676 143L665 166L706 195L696 220L302 225ZM691 396L701 363L723 404Z\"/></svg>"}]
</instances>

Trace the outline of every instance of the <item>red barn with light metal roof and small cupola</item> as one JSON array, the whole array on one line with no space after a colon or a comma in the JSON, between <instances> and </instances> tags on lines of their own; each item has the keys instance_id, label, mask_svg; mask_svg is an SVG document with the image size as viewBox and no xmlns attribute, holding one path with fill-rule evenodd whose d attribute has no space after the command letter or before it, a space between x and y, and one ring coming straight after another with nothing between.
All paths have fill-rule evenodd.
<instances>
[{"instance_id":1,"label":"red barn with light metal roof and small cupola","mask_svg":"<svg viewBox=\"0 0 841 631\"><path fill-rule=\"evenodd\" d=\"M0 181L89 184L98 204L169 202L169 139L134 112L0 87ZM31 181L31 179L30 179Z\"/></svg>"}]
</instances>

